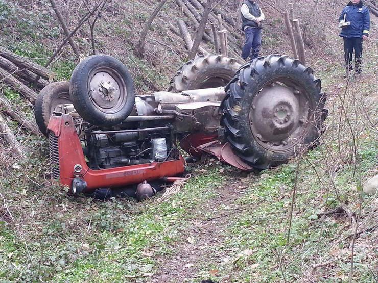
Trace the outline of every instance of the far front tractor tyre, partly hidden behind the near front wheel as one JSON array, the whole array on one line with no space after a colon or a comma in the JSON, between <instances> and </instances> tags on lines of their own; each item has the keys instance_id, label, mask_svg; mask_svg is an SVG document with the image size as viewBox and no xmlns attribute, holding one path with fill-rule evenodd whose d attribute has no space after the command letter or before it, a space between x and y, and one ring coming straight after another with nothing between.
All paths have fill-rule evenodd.
<instances>
[{"instance_id":1,"label":"far front tractor tyre, partly hidden behind the near front wheel","mask_svg":"<svg viewBox=\"0 0 378 283\"><path fill-rule=\"evenodd\" d=\"M69 82L55 82L45 86L37 96L34 116L39 130L48 137L48 124L53 111L58 105L72 104L69 97Z\"/></svg>"}]
</instances>

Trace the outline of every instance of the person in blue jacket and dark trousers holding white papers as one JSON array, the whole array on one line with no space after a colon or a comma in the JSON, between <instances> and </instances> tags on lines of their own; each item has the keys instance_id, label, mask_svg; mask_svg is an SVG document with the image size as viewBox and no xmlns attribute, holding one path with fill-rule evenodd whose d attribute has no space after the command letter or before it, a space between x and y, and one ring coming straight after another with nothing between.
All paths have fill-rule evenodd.
<instances>
[{"instance_id":1,"label":"person in blue jacket and dark trousers holding white papers","mask_svg":"<svg viewBox=\"0 0 378 283\"><path fill-rule=\"evenodd\" d=\"M344 38L345 69L348 74L353 70L351 65L353 50L355 51L355 73L361 73L362 41L367 40L370 33L369 9L361 0L351 0L344 7L339 17L340 36Z\"/></svg>"}]
</instances>

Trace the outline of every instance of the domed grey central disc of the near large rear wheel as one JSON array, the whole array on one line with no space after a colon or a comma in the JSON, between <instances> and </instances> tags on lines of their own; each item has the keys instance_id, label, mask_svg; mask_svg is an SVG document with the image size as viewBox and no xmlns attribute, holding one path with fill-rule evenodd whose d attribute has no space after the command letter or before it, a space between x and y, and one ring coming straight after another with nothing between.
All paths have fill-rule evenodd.
<instances>
[{"instance_id":1,"label":"domed grey central disc of the near large rear wheel","mask_svg":"<svg viewBox=\"0 0 378 283\"><path fill-rule=\"evenodd\" d=\"M250 112L252 133L262 142L286 145L290 135L298 128L299 115L295 91L270 84L253 99Z\"/></svg>"}]
</instances>

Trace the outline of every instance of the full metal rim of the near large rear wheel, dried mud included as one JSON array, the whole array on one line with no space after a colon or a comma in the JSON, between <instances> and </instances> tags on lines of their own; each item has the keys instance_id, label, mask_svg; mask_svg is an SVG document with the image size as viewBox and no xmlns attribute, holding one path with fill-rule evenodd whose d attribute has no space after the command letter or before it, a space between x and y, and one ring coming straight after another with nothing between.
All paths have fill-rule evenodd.
<instances>
[{"instance_id":1,"label":"full metal rim of the near large rear wheel, dried mud included","mask_svg":"<svg viewBox=\"0 0 378 283\"><path fill-rule=\"evenodd\" d=\"M302 87L288 78L275 79L254 96L249 113L256 141L273 152L291 150L308 131L309 99Z\"/></svg>"}]
</instances>

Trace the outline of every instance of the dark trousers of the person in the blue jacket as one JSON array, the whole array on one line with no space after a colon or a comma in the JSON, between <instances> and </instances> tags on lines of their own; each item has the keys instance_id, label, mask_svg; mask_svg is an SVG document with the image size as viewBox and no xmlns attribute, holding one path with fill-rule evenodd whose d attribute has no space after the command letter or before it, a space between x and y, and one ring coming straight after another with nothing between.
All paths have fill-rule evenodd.
<instances>
[{"instance_id":1,"label":"dark trousers of the person in the blue jacket","mask_svg":"<svg viewBox=\"0 0 378 283\"><path fill-rule=\"evenodd\" d=\"M347 71L353 70L351 64L353 57L353 50L355 52L355 72L361 73L361 63L362 63L362 38L360 37L344 37L344 58L345 58L345 68Z\"/></svg>"}]
</instances>

